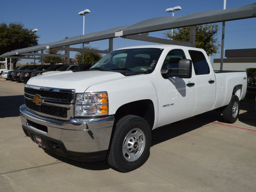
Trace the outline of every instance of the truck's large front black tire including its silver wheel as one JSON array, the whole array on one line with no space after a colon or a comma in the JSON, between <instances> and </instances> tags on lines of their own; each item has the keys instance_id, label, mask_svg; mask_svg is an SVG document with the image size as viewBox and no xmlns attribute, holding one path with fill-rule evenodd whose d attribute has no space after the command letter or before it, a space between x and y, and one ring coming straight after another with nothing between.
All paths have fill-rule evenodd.
<instances>
[{"instance_id":1,"label":"truck's large front black tire including its silver wheel","mask_svg":"<svg viewBox=\"0 0 256 192\"><path fill-rule=\"evenodd\" d=\"M151 130L140 116L118 120L109 149L108 163L118 172L131 172L143 165L150 154Z\"/></svg>"}]
</instances>

